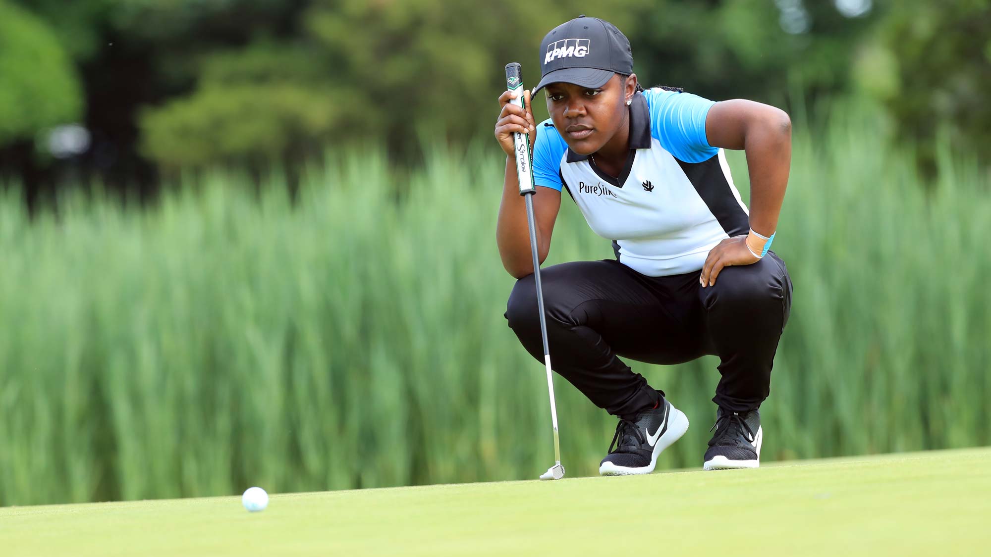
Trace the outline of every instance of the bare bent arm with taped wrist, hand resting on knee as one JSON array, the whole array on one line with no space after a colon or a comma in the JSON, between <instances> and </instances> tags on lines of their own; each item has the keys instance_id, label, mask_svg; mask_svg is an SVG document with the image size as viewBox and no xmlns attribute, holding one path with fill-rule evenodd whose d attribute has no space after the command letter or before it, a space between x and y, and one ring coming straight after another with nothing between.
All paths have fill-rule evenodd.
<instances>
[{"instance_id":1,"label":"bare bent arm with taped wrist, hand resting on knee","mask_svg":"<svg viewBox=\"0 0 991 557\"><path fill-rule=\"evenodd\" d=\"M746 151L750 230L770 237L778 227L792 161L792 121L788 114L749 100L717 102L706 117L706 137L713 147ZM746 239L746 235L734 236L709 252L700 277L703 287L715 284L724 267L760 261L747 247Z\"/></svg>"}]
</instances>

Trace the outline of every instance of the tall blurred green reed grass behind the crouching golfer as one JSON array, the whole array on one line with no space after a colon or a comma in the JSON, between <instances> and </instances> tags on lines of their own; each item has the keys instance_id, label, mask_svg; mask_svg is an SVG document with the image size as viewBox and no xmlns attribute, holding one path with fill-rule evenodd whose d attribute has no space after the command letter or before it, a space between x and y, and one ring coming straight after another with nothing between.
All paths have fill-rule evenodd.
<instances>
[{"instance_id":1,"label":"tall blurred green reed grass behind the crouching golfer","mask_svg":"<svg viewBox=\"0 0 991 557\"><path fill-rule=\"evenodd\" d=\"M4 194L0 504L535 478L550 419L502 317L503 161L486 143L406 174L355 150L294 200L215 173L33 219ZM991 442L987 176L914 168L868 124L797 133L765 460ZM557 227L546 265L611 257L567 196ZM661 468L701 465L716 363L631 363L693 423ZM595 474L614 418L556 389L569 474Z\"/></svg>"}]
</instances>

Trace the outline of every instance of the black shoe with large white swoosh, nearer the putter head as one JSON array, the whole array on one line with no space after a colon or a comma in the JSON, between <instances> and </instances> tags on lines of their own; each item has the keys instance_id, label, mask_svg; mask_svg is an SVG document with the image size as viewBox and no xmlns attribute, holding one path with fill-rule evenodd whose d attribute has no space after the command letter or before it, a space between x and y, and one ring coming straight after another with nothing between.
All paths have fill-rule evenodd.
<instances>
[{"instance_id":1,"label":"black shoe with large white swoosh, nearer the putter head","mask_svg":"<svg viewBox=\"0 0 991 557\"><path fill-rule=\"evenodd\" d=\"M688 417L661 397L656 408L640 412L635 420L619 420L609 454L599 465L599 474L650 474L657 464L657 455L687 430Z\"/></svg>"}]
</instances>

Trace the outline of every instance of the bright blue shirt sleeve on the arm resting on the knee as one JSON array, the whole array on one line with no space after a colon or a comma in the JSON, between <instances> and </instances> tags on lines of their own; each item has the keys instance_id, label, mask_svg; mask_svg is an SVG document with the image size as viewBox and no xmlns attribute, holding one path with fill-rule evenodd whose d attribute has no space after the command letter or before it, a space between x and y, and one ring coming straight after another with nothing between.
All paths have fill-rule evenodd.
<instances>
[{"instance_id":1,"label":"bright blue shirt sleeve on the arm resting on the knee","mask_svg":"<svg viewBox=\"0 0 991 557\"><path fill-rule=\"evenodd\" d=\"M702 163L719 150L709 145L706 116L716 101L659 87L644 91L650 107L650 135L685 163Z\"/></svg>"}]
</instances>

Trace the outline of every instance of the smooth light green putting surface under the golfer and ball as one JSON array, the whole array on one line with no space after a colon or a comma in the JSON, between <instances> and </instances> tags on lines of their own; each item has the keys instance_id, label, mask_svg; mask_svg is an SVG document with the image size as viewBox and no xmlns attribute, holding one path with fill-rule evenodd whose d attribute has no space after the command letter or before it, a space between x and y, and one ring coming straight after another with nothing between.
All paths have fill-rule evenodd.
<instances>
[{"instance_id":1,"label":"smooth light green putting surface under the golfer and ball","mask_svg":"<svg viewBox=\"0 0 991 557\"><path fill-rule=\"evenodd\" d=\"M0 508L14 555L977 555L991 448L672 472ZM534 475L543 470L534 470Z\"/></svg>"}]
</instances>

